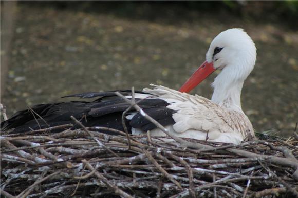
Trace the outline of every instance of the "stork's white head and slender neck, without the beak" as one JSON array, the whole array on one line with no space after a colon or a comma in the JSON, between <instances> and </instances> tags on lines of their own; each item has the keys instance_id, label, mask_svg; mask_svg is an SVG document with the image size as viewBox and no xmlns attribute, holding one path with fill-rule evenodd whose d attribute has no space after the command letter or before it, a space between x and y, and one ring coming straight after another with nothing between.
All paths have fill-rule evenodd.
<instances>
[{"instance_id":1,"label":"stork's white head and slender neck, without the beak","mask_svg":"<svg viewBox=\"0 0 298 198\"><path fill-rule=\"evenodd\" d=\"M214 55L216 47L221 51ZM256 61L256 47L242 29L229 29L218 34L209 47L206 60L222 71L214 79L212 101L243 113L241 89Z\"/></svg>"}]
</instances>

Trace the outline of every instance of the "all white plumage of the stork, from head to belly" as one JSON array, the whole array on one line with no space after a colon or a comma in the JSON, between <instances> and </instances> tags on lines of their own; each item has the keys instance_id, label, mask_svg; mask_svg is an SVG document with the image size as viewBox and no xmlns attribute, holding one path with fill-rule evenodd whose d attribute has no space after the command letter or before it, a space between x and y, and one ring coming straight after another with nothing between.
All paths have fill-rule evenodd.
<instances>
[{"instance_id":1,"label":"all white plumage of the stork, from head to belly","mask_svg":"<svg viewBox=\"0 0 298 198\"><path fill-rule=\"evenodd\" d=\"M219 52L215 53L215 48ZM217 49L218 50L218 49ZM243 83L256 61L256 48L251 38L241 29L221 32L211 42L206 54L208 63L221 72L212 86L212 99L181 93L164 86L144 89L144 92L171 103L174 125L166 126L178 137L238 144L253 139L253 126L241 109L240 95ZM133 129L133 134L142 134ZM159 129L153 136L164 136Z\"/></svg>"}]
</instances>

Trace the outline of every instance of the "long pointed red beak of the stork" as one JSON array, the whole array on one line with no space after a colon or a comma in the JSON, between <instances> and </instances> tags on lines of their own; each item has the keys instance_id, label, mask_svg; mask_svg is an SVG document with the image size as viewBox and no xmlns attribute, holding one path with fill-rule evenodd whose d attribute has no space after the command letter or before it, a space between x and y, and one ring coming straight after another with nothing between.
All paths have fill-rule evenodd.
<instances>
[{"instance_id":1,"label":"long pointed red beak of the stork","mask_svg":"<svg viewBox=\"0 0 298 198\"><path fill-rule=\"evenodd\" d=\"M192 76L181 86L180 92L190 92L192 91L199 83L201 83L205 78L215 71L213 68L213 63L208 63L207 61L195 71Z\"/></svg>"}]
</instances>

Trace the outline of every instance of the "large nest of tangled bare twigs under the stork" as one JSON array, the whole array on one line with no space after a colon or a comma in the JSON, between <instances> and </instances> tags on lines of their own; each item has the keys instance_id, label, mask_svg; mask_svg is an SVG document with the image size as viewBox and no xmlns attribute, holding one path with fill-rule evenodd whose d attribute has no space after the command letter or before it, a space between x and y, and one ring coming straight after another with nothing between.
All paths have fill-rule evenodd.
<instances>
[{"instance_id":1,"label":"large nest of tangled bare twigs under the stork","mask_svg":"<svg viewBox=\"0 0 298 198\"><path fill-rule=\"evenodd\" d=\"M297 196L297 136L238 146L188 140L185 147L149 134L110 136L101 127L51 129L2 136L2 195Z\"/></svg>"}]
</instances>

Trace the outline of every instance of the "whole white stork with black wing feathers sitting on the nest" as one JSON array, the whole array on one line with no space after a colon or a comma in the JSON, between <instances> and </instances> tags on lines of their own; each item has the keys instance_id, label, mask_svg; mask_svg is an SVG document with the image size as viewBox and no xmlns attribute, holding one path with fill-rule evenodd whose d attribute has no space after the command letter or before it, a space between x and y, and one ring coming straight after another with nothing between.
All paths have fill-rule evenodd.
<instances>
[{"instance_id":1,"label":"whole white stork with black wing feathers sitting on the nest","mask_svg":"<svg viewBox=\"0 0 298 198\"><path fill-rule=\"evenodd\" d=\"M240 104L244 80L252 71L256 49L250 37L241 29L220 33L212 41L206 62L193 76L175 91L153 85L135 94L136 101L145 113L166 126L173 135L238 144L254 138L251 122ZM212 86L212 99L189 95L189 92L214 70L221 70ZM131 97L125 90L126 97ZM70 116L86 126L105 126L123 130L121 116L129 107L114 92L73 95L83 98L99 97L94 102L67 102L38 105L21 111L1 125L14 133L71 123ZM153 136L163 136L162 131L133 110L125 115L125 123L133 135L151 131Z\"/></svg>"}]
</instances>

